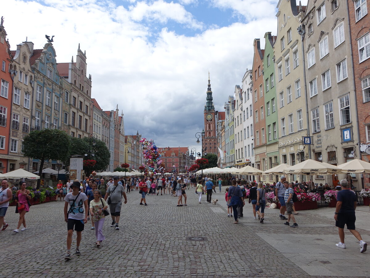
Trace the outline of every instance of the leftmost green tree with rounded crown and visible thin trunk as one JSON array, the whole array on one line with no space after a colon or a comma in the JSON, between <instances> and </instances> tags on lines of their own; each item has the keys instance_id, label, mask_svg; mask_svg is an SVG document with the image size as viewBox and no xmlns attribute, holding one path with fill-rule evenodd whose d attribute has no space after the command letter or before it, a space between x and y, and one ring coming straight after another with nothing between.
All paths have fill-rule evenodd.
<instances>
[{"instance_id":1,"label":"leftmost green tree with rounded crown and visible thin trunk","mask_svg":"<svg viewBox=\"0 0 370 278\"><path fill-rule=\"evenodd\" d=\"M31 131L24 139L22 153L30 158L40 159L38 175L42 175L44 162L48 159L65 161L68 158L70 136L58 129L43 129ZM37 189L40 179L37 180Z\"/></svg>"}]
</instances>

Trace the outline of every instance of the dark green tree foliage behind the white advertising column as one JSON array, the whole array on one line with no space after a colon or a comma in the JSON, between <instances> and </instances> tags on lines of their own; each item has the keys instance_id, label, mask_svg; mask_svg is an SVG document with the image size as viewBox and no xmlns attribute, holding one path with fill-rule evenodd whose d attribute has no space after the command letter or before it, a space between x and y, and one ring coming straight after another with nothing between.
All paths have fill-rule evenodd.
<instances>
[{"instance_id":1,"label":"dark green tree foliage behind the white advertising column","mask_svg":"<svg viewBox=\"0 0 370 278\"><path fill-rule=\"evenodd\" d=\"M90 145L91 143L91 145ZM91 153L94 153L94 156ZM87 156L85 156L87 154ZM109 165L110 153L102 140L95 139L95 146L92 145L90 138L75 138L71 137L71 147L69 150L68 160L65 161L65 165L69 165L69 157L71 155L83 155L85 159L96 160L94 167L84 167L84 171L87 175L94 170L97 172L105 171Z\"/></svg>"}]
</instances>

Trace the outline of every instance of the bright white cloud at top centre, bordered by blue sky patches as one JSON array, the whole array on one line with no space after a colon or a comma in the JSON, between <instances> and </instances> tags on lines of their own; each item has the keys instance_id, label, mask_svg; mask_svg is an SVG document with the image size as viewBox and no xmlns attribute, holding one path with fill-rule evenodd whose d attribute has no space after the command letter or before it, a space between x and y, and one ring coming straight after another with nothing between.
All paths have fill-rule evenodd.
<instances>
[{"instance_id":1,"label":"bright white cloud at top centre, bordered by blue sky patches","mask_svg":"<svg viewBox=\"0 0 370 278\"><path fill-rule=\"evenodd\" d=\"M167 3L163 0L147 4L144 1L137 2L136 6L130 7L130 16L135 21L143 19L158 20L167 23L168 20L186 24L192 29L202 29L203 24L195 20L191 13L185 10L179 3Z\"/></svg>"}]
</instances>

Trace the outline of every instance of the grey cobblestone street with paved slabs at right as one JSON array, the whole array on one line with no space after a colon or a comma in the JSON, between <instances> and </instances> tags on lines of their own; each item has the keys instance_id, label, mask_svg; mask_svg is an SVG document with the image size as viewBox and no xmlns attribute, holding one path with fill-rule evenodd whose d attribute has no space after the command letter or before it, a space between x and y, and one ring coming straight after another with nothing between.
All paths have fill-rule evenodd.
<instances>
[{"instance_id":1,"label":"grey cobblestone street with paved slabs at right","mask_svg":"<svg viewBox=\"0 0 370 278\"><path fill-rule=\"evenodd\" d=\"M223 188L224 192L225 188ZM300 211L298 228L283 225L277 209L266 209L265 224L253 219L246 203L239 224L227 217L224 193L219 202L198 203L187 191L188 206L176 207L177 198L149 195L140 206L138 191L122 204L120 230L110 227L106 240L95 247L95 231L85 225L82 255L65 262L67 224L64 202L34 205L26 214L28 229L15 234L18 215L9 207L9 227L0 232L0 277L370 277L370 251L346 231L347 249L339 241L333 209ZM369 208L357 210L357 230L370 243ZM203 236L205 241L187 237ZM72 251L75 246L75 234Z\"/></svg>"}]
</instances>

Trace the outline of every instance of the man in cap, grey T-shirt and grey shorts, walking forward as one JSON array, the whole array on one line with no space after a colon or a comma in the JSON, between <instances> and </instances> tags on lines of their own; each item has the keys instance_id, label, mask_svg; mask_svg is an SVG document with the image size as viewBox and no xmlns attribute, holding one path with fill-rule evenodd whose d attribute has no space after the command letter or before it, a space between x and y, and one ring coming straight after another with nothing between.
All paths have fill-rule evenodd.
<instances>
[{"instance_id":1,"label":"man in cap, grey T-shirt and grey shorts, walking forward","mask_svg":"<svg viewBox=\"0 0 370 278\"><path fill-rule=\"evenodd\" d=\"M125 202L127 203L127 196L125 192L125 188L118 183L118 178L113 178L113 185L110 185L107 189L107 193L105 193L104 200L107 200L108 196L110 201L109 210L112 216L112 224L111 227L115 226L116 230L119 230L118 222L120 222L120 215L121 215L121 205L122 205L122 195L125 198Z\"/></svg>"}]
</instances>

